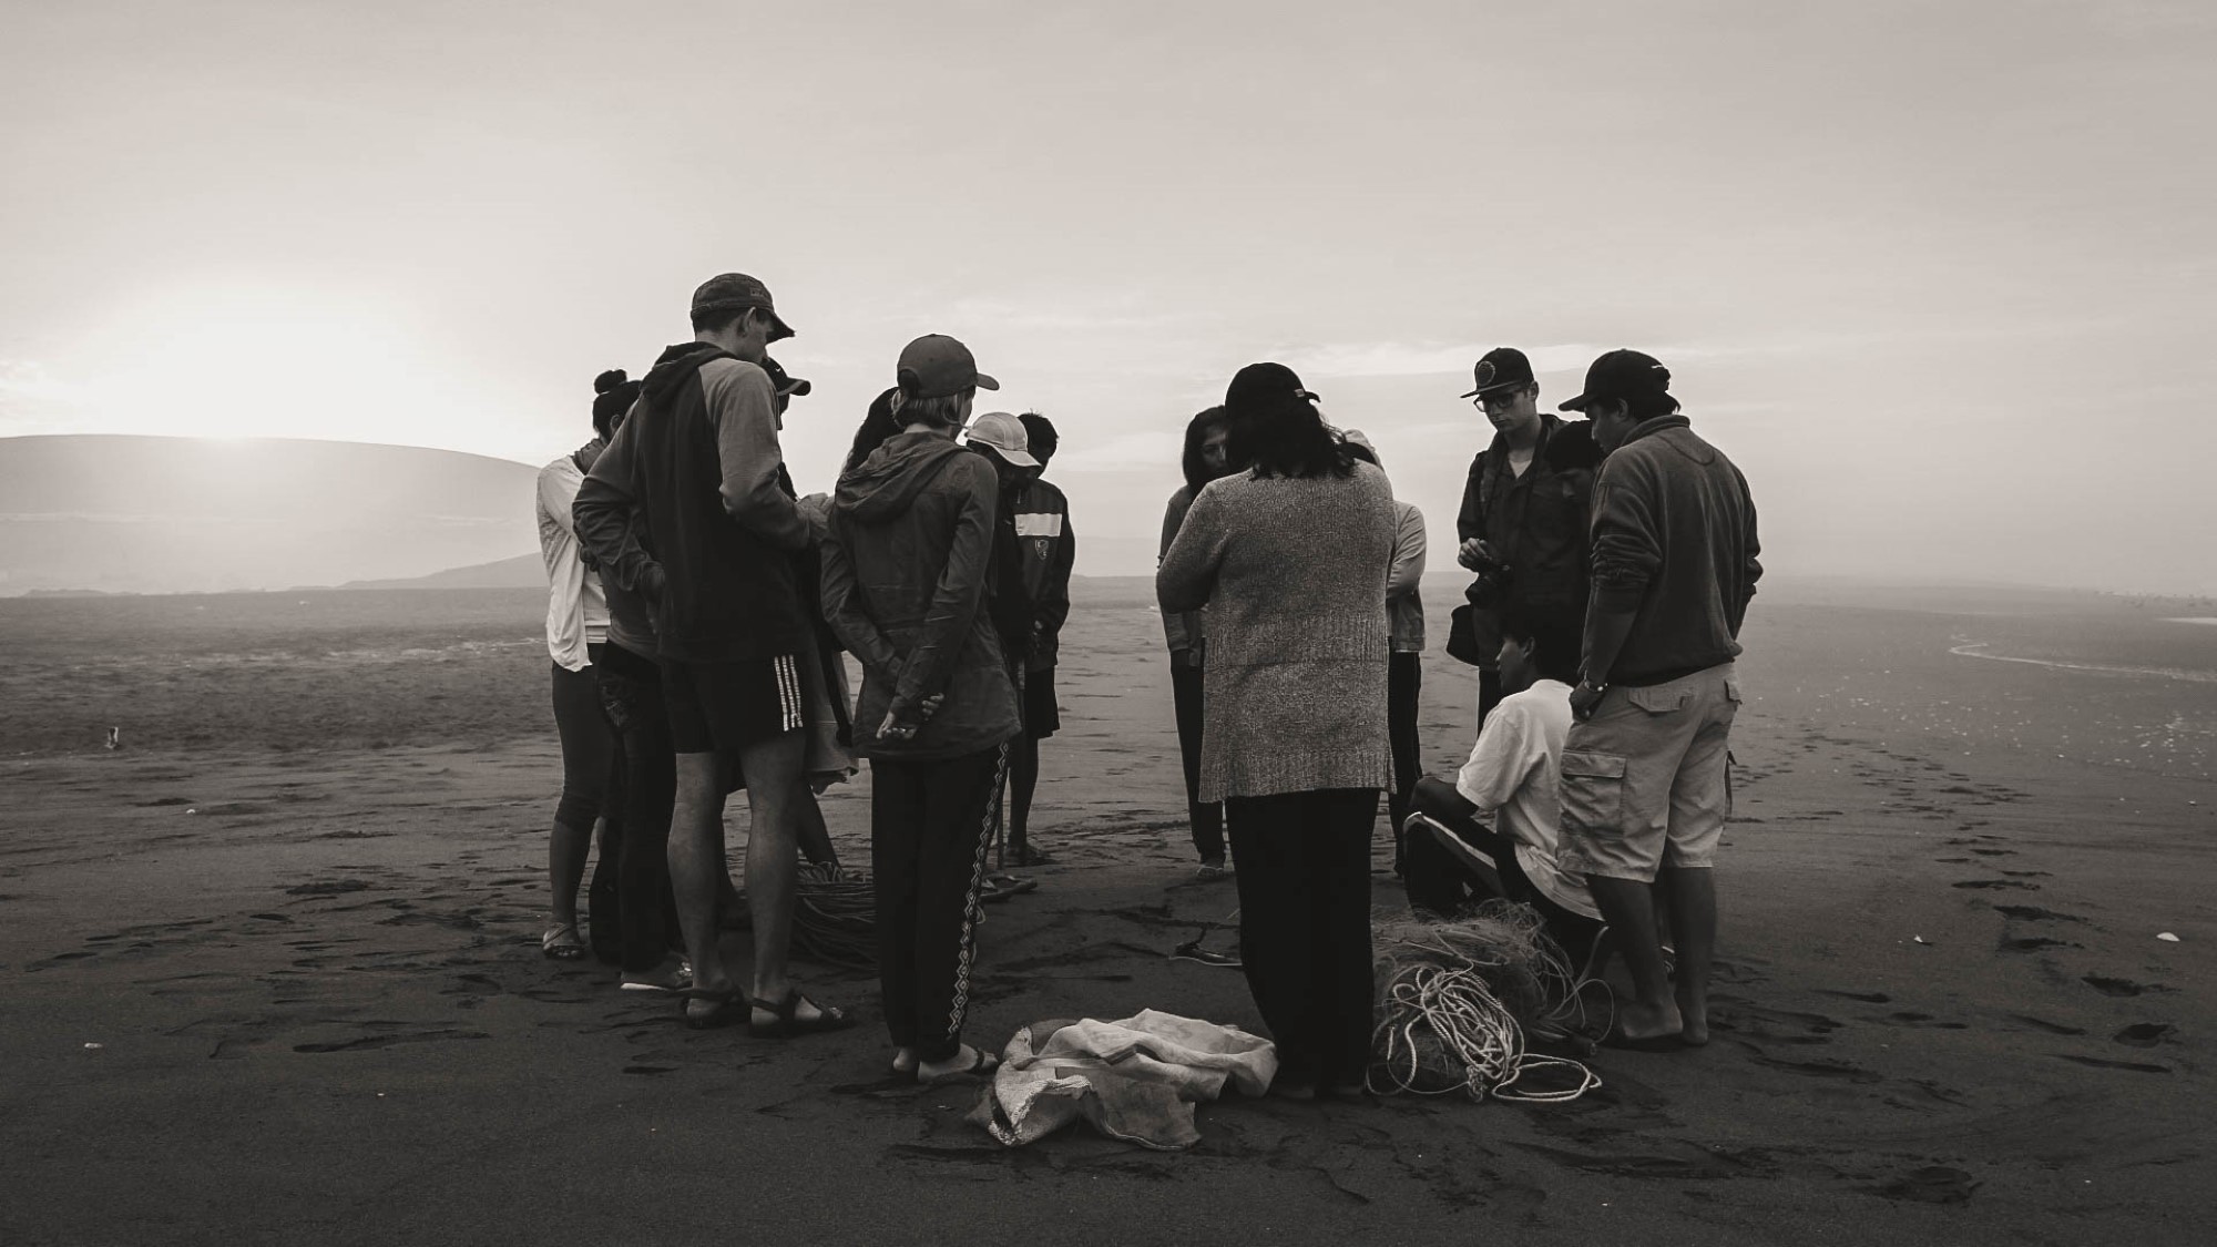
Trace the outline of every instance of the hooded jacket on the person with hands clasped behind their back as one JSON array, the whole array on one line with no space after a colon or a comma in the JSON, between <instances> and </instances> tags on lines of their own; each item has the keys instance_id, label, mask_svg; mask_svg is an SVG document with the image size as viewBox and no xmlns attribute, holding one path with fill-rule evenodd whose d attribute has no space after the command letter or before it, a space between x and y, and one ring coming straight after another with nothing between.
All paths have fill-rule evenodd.
<instances>
[{"instance_id":1,"label":"hooded jacket on the person with hands clasped behind their back","mask_svg":"<svg viewBox=\"0 0 2217 1247\"><path fill-rule=\"evenodd\" d=\"M840 477L823 608L862 661L856 752L951 759L1015 737L1015 681L982 608L998 508L993 464L931 433L889 437ZM947 699L916 737L878 737L931 695Z\"/></svg>"}]
</instances>

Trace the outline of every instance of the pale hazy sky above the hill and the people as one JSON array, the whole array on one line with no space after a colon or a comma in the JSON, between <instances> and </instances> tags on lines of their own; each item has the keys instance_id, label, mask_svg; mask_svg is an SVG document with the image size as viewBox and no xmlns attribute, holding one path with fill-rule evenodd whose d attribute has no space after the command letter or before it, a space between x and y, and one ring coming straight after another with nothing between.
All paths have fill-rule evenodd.
<instances>
[{"instance_id":1,"label":"pale hazy sky above the hill and the people","mask_svg":"<svg viewBox=\"0 0 2217 1247\"><path fill-rule=\"evenodd\" d=\"M900 344L1082 572L1279 359L1450 561L1523 346L1672 366L1780 575L2217 590L2217 4L13 2L0 435L545 462L747 271L827 488ZM521 550L519 550L521 552Z\"/></svg>"}]
</instances>

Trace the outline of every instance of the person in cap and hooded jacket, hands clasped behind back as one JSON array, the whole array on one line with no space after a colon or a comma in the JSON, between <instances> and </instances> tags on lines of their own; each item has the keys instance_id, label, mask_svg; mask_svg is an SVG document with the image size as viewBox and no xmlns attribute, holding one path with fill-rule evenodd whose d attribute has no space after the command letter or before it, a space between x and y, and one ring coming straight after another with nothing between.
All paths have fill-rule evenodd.
<instances>
[{"instance_id":1,"label":"person in cap and hooded jacket, hands clasped behind back","mask_svg":"<svg viewBox=\"0 0 2217 1247\"><path fill-rule=\"evenodd\" d=\"M953 337L900 353L902 430L831 497L823 606L862 663L856 750L871 759L878 987L893 1069L922 1083L989 1074L962 1043L980 890L1015 683L984 610L1000 484L956 444L978 388L1000 388Z\"/></svg>"}]
</instances>

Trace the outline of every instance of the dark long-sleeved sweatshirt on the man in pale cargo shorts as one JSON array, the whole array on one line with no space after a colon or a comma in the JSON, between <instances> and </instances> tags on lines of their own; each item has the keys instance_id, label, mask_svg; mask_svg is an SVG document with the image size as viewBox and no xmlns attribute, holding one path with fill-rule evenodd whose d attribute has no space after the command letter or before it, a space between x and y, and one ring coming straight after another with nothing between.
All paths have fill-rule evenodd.
<instances>
[{"instance_id":1,"label":"dark long-sleeved sweatshirt on the man in pale cargo shorts","mask_svg":"<svg viewBox=\"0 0 2217 1247\"><path fill-rule=\"evenodd\" d=\"M1683 415L1641 422L1594 486L1594 610L1634 612L1610 683L1727 663L1763 577L1747 479Z\"/></svg>"}]
</instances>

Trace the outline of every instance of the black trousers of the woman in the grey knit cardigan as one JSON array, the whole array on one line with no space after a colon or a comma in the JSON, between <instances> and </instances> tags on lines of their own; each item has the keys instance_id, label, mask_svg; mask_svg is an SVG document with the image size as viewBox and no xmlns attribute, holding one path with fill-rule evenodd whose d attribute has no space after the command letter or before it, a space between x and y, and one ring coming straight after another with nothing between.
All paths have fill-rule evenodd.
<instances>
[{"instance_id":1,"label":"black trousers of the woman in the grey knit cardigan","mask_svg":"<svg viewBox=\"0 0 2217 1247\"><path fill-rule=\"evenodd\" d=\"M1239 859L1239 961L1288 1083L1359 1083L1370 1063L1375 788L1224 803Z\"/></svg>"}]
</instances>

